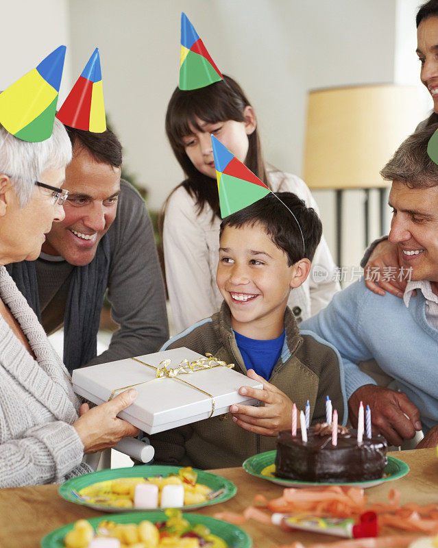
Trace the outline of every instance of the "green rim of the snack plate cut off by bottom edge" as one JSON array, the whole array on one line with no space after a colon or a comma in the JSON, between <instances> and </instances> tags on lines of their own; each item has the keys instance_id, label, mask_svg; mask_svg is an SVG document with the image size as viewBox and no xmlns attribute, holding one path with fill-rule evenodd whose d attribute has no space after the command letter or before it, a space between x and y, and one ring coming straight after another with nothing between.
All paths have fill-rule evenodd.
<instances>
[{"instance_id":1,"label":"green rim of the snack plate cut off by bottom edge","mask_svg":"<svg viewBox=\"0 0 438 548\"><path fill-rule=\"evenodd\" d=\"M205 525L212 534L223 538L230 548L251 548L252 546L251 537L245 531L241 530L240 527L236 527L236 525L200 514L182 514L182 516L188 523ZM132 514L114 514L114 516L111 516L111 521L115 521L116 523L140 523L144 520L156 523L157 521L165 521L166 519L167 516L164 512L133 512ZM103 520L103 517L87 519L95 529ZM64 525L64 527L60 527L47 534L41 540L41 547L63 548L64 536L73 529L73 525L75 524L69 523L69 525Z\"/></svg>"}]
</instances>

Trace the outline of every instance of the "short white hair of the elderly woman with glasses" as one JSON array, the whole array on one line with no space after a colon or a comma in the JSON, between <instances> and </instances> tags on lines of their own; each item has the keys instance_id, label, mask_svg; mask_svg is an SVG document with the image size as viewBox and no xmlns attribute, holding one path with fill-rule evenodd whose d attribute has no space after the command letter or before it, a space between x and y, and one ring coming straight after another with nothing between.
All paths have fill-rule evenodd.
<instances>
[{"instance_id":1,"label":"short white hair of the elderly woman with glasses","mask_svg":"<svg viewBox=\"0 0 438 548\"><path fill-rule=\"evenodd\" d=\"M0 173L12 179L22 208L32 197L42 172L64 168L71 157L70 138L58 119L53 123L53 134L42 142L17 139L0 124Z\"/></svg>"}]
</instances>

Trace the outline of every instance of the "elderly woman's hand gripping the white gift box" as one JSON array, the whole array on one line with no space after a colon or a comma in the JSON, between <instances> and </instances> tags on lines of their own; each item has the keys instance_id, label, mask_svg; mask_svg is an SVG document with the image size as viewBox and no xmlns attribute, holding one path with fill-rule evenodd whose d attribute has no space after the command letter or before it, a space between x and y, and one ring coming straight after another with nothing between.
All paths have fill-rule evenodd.
<instances>
[{"instance_id":1,"label":"elderly woman's hand gripping the white gift box","mask_svg":"<svg viewBox=\"0 0 438 548\"><path fill-rule=\"evenodd\" d=\"M80 418L73 426L84 444L84 453L95 453L107 447L114 447L126 436L138 436L140 430L132 424L117 419L136 399L137 390L130 388L117 397L90 409L88 403L82 403Z\"/></svg>"}]
</instances>

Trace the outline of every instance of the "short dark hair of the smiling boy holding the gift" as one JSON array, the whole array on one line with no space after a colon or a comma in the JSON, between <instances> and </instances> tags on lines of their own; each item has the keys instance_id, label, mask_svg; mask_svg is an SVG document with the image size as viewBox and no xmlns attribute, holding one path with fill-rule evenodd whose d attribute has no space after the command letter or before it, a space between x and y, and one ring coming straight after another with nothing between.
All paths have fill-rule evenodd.
<instances>
[{"instance_id":1,"label":"short dark hair of the smiling boy holding the gift","mask_svg":"<svg viewBox=\"0 0 438 548\"><path fill-rule=\"evenodd\" d=\"M296 221L276 196L293 212ZM302 234L297 222L300 223ZM289 266L303 258L313 260L322 236L322 224L317 212L313 208L308 208L304 201L292 192L276 192L275 195L269 192L251 206L228 215L221 223L219 237L225 227L253 227L257 224L263 225L273 243L286 253Z\"/></svg>"}]
</instances>

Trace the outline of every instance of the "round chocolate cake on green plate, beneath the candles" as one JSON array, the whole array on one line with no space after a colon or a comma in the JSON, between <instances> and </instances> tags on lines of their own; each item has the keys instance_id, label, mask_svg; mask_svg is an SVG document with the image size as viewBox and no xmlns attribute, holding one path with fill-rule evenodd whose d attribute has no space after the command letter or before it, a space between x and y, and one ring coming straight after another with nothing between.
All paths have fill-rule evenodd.
<instances>
[{"instance_id":1,"label":"round chocolate cake on green plate, beneath the candles","mask_svg":"<svg viewBox=\"0 0 438 548\"><path fill-rule=\"evenodd\" d=\"M332 427L317 424L307 431L303 443L300 430L277 437L276 475L305 482L363 482L380 479L387 464L387 443L383 436L363 438L357 431L338 427L337 446L332 445Z\"/></svg>"}]
</instances>

